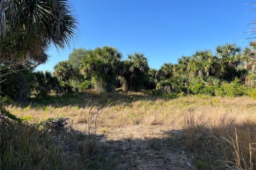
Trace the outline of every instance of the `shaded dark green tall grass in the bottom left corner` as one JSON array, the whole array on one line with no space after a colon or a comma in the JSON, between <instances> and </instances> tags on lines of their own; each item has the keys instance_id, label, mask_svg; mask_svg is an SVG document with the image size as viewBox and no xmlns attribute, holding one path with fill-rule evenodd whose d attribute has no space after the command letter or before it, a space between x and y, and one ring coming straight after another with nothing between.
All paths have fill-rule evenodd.
<instances>
[{"instance_id":1,"label":"shaded dark green tall grass in the bottom left corner","mask_svg":"<svg viewBox=\"0 0 256 170\"><path fill-rule=\"evenodd\" d=\"M0 169L97 169L107 165L93 135L52 133L37 124L0 125ZM109 166L106 166L106 169Z\"/></svg>"}]
</instances>

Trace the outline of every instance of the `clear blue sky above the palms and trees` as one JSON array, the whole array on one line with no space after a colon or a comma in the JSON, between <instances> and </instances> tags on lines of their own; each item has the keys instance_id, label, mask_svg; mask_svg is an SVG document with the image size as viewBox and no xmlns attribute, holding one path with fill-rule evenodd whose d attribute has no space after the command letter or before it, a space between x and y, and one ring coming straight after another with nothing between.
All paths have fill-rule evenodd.
<instances>
[{"instance_id":1,"label":"clear blue sky above the palms and trees","mask_svg":"<svg viewBox=\"0 0 256 170\"><path fill-rule=\"evenodd\" d=\"M217 45L249 44L247 25L255 19L250 0L73 0L78 22L78 38L63 50L48 50L49 61L37 70L53 71L68 59L73 48L116 47L123 59L141 52L149 66L177 62L182 55L199 49L214 50ZM242 41L241 41L242 40Z\"/></svg>"}]
</instances>

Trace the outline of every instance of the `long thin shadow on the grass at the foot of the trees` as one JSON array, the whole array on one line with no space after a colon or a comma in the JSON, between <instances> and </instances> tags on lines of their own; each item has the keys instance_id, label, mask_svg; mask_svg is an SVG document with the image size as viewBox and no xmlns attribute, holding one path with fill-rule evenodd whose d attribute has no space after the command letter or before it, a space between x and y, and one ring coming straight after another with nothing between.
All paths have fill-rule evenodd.
<instances>
[{"instance_id":1,"label":"long thin shadow on the grass at the foot of the trees","mask_svg":"<svg viewBox=\"0 0 256 170\"><path fill-rule=\"evenodd\" d=\"M93 91L76 92L62 96L49 96L30 98L26 103L17 103L21 107L30 106L32 108L42 108L45 106L63 107L63 106L108 106L130 104L134 101L146 100L155 101L160 96L151 95L146 92L115 92L113 94L97 93ZM162 98L163 99L163 98Z\"/></svg>"}]
</instances>

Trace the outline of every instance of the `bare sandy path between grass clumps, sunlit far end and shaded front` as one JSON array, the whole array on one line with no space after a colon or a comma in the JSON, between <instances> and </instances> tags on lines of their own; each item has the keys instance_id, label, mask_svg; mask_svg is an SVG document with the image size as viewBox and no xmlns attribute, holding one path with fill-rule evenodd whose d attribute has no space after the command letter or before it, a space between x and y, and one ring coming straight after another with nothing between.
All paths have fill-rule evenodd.
<instances>
[{"instance_id":1,"label":"bare sandy path between grass clumps, sunlit far end and shaded front","mask_svg":"<svg viewBox=\"0 0 256 170\"><path fill-rule=\"evenodd\" d=\"M133 125L109 129L101 140L116 154L114 169L194 169L193 156L177 142L180 133L175 127Z\"/></svg>"}]
</instances>

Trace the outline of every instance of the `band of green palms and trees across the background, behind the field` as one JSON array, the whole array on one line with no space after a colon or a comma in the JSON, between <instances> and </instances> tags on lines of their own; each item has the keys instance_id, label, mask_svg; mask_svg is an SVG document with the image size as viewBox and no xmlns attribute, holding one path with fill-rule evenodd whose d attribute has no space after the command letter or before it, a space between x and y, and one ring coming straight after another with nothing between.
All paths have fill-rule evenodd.
<instances>
[{"instance_id":1,"label":"band of green palms and trees across the background, behind the field","mask_svg":"<svg viewBox=\"0 0 256 170\"><path fill-rule=\"evenodd\" d=\"M149 90L170 98L186 94L242 96L256 87L255 49L253 42L243 50L235 44L221 45L214 52L198 50L156 70L149 68L142 53L135 52L122 60L114 47L79 48L69 54L67 61L55 65L53 73L29 69L9 75L1 84L1 94L23 100L87 89L114 92L118 88Z\"/></svg>"}]
</instances>

